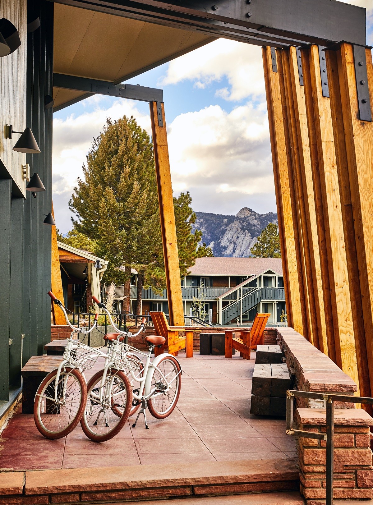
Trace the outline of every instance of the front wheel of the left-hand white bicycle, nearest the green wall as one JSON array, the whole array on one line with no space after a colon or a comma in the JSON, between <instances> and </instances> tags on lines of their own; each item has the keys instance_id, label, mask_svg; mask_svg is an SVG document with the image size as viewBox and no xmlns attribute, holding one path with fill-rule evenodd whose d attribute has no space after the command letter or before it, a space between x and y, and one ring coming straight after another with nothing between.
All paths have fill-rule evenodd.
<instances>
[{"instance_id":1,"label":"front wheel of the left-hand white bicycle, nearest the green wall","mask_svg":"<svg viewBox=\"0 0 373 505\"><path fill-rule=\"evenodd\" d=\"M56 377L57 370L54 370L42 380L34 403L36 428L45 438L52 440L71 433L79 423L87 401L85 380L78 370L62 370L57 386Z\"/></svg>"}]
</instances>

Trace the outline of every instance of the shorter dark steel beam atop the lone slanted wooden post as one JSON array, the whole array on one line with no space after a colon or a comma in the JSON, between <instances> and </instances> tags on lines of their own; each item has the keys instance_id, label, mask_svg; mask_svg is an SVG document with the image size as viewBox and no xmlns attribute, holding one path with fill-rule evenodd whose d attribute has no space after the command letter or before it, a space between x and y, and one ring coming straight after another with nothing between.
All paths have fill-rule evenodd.
<instances>
[{"instance_id":1,"label":"shorter dark steel beam atop the lone slanted wooden post","mask_svg":"<svg viewBox=\"0 0 373 505\"><path fill-rule=\"evenodd\" d=\"M163 90L134 84L113 84L109 81L87 79L73 75L53 74L53 85L56 88L84 91L87 94L104 94L118 96L141 102L163 102Z\"/></svg>"}]
</instances>

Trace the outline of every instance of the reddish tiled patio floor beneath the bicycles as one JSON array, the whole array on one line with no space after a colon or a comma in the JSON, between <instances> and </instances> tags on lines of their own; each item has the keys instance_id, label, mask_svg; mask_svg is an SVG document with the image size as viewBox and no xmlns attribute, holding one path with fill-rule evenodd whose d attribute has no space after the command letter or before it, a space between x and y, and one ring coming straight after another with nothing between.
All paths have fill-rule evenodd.
<instances>
[{"instance_id":1,"label":"reddish tiled patio floor beneath the bicycles","mask_svg":"<svg viewBox=\"0 0 373 505\"><path fill-rule=\"evenodd\" d=\"M185 359L177 408L163 421L148 413L150 429L133 418L112 440L91 442L80 425L67 437L46 440L33 416L20 410L0 438L1 470L89 468L204 461L293 459L294 438L285 420L250 414L255 363L236 356Z\"/></svg>"}]
</instances>

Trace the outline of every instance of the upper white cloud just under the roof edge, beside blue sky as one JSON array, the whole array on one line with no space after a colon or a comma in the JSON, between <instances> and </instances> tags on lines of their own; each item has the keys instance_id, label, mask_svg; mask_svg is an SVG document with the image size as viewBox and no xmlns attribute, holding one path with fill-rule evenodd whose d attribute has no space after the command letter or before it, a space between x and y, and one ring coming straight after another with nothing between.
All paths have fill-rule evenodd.
<instances>
[{"instance_id":1,"label":"upper white cloud just under the roof edge, beside blue sky","mask_svg":"<svg viewBox=\"0 0 373 505\"><path fill-rule=\"evenodd\" d=\"M172 60L160 85L177 84L184 80L195 81L205 88L213 81L226 77L229 90L216 92L226 100L239 101L247 97L263 98L264 74L262 53L256 45L234 40L218 39L192 53Z\"/></svg>"}]
</instances>

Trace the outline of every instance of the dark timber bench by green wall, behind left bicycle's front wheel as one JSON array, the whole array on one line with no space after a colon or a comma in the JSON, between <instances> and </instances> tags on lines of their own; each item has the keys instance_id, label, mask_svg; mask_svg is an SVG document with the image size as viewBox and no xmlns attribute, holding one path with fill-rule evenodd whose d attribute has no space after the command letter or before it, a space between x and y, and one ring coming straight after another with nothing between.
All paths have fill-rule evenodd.
<instances>
[{"instance_id":1,"label":"dark timber bench by green wall, behind left bicycle's front wheel","mask_svg":"<svg viewBox=\"0 0 373 505\"><path fill-rule=\"evenodd\" d=\"M22 368L22 414L33 414L37 388L44 377L58 368L62 360L62 356L31 356Z\"/></svg>"}]
</instances>

